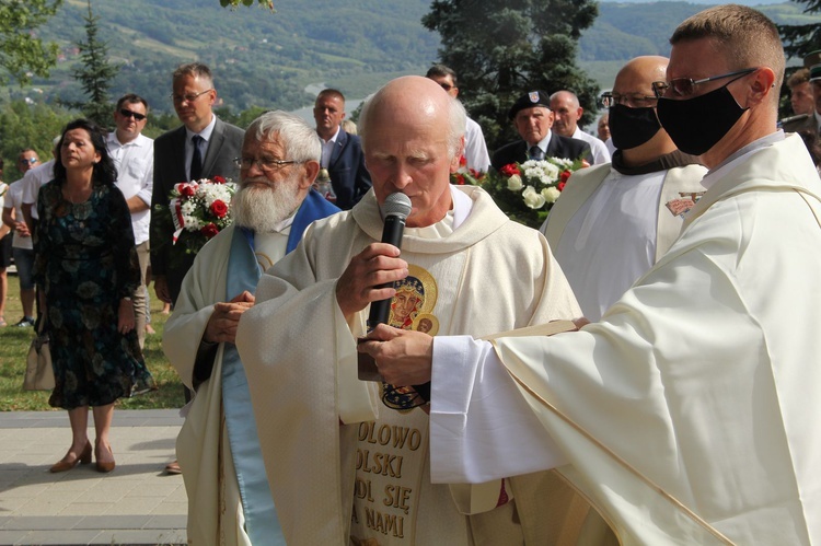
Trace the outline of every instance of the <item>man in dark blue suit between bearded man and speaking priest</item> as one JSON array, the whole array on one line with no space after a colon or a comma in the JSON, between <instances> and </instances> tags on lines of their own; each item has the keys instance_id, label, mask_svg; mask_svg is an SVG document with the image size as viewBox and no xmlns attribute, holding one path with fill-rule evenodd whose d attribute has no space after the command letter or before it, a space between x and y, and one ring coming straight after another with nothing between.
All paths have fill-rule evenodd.
<instances>
[{"instance_id":1,"label":"man in dark blue suit between bearded man and speaking priest","mask_svg":"<svg viewBox=\"0 0 821 546\"><path fill-rule=\"evenodd\" d=\"M371 175L365 169L362 143L356 135L345 132L339 124L345 118L345 96L335 89L325 89L313 107L316 133L322 139L322 161L336 194L336 206L348 210L371 188Z\"/></svg>"}]
</instances>

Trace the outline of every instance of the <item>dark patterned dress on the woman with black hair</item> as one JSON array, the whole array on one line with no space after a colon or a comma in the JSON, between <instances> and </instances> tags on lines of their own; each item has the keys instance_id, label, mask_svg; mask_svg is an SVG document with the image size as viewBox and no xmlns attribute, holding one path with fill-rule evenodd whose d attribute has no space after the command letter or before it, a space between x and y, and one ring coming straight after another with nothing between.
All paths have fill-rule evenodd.
<instances>
[{"instance_id":1,"label":"dark patterned dress on the woman with black hair","mask_svg":"<svg viewBox=\"0 0 821 546\"><path fill-rule=\"evenodd\" d=\"M157 388L132 329L117 330L119 301L139 286L131 217L123 194L94 184L81 204L61 181L41 189L34 275L45 291L55 390L48 403L104 406Z\"/></svg>"}]
</instances>

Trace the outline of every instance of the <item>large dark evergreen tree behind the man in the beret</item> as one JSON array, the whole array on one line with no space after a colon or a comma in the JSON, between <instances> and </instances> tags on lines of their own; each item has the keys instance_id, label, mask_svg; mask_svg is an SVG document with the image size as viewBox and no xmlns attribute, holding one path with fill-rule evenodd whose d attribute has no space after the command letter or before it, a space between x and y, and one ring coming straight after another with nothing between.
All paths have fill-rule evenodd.
<instances>
[{"instance_id":1,"label":"large dark evergreen tree behind the man in the beret","mask_svg":"<svg viewBox=\"0 0 821 546\"><path fill-rule=\"evenodd\" d=\"M591 0L435 0L421 22L442 37L441 62L494 150L519 138L507 114L529 91L570 90L580 123L593 120L599 88L576 66L576 48L598 13Z\"/></svg>"}]
</instances>

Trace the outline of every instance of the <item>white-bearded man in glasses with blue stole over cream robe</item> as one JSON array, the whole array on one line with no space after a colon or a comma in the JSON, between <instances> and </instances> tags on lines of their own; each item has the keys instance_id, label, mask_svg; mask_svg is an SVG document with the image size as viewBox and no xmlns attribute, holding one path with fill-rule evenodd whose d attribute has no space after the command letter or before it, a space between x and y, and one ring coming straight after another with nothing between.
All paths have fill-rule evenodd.
<instances>
[{"instance_id":1,"label":"white-bearded man in glasses with blue stole over cream robe","mask_svg":"<svg viewBox=\"0 0 821 546\"><path fill-rule=\"evenodd\" d=\"M309 223L339 211L311 189L320 153L316 132L291 114L251 124L236 159L233 223L199 252L165 325L163 350L196 393L177 438L193 544L221 543L221 534L224 544L285 544L234 337L262 271Z\"/></svg>"}]
</instances>

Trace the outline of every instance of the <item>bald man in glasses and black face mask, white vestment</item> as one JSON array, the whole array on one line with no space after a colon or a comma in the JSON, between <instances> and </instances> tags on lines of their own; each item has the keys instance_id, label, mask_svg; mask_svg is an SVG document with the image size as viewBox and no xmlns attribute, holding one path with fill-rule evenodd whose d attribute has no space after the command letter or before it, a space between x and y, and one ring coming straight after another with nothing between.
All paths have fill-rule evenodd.
<instances>
[{"instance_id":1,"label":"bald man in glasses and black face mask, white vestment","mask_svg":"<svg viewBox=\"0 0 821 546\"><path fill-rule=\"evenodd\" d=\"M675 149L656 117L652 82L663 79L667 63L637 57L618 71L613 92L602 95L613 162L577 171L542 225L590 321L663 256L704 193L707 170Z\"/></svg>"}]
</instances>

